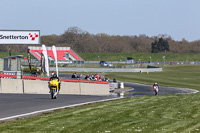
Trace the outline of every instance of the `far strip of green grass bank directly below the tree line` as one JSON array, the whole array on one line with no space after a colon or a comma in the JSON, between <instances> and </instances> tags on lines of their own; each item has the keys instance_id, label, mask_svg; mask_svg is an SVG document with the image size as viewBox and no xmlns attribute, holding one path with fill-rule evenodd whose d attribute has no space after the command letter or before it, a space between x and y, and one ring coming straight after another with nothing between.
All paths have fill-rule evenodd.
<instances>
[{"instance_id":1,"label":"far strip of green grass bank directly below the tree line","mask_svg":"<svg viewBox=\"0 0 200 133\"><path fill-rule=\"evenodd\" d=\"M86 61L125 61L126 57L134 57L135 61L162 62L165 61L200 61L200 54L181 54L181 53L78 53Z\"/></svg>"}]
</instances>

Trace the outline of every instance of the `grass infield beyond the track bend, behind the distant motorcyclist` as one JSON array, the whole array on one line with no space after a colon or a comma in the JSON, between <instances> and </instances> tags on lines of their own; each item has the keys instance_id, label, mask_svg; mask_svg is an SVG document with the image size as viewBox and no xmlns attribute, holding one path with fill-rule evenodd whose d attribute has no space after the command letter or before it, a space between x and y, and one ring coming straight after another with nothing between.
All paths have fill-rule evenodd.
<instances>
[{"instance_id":1,"label":"grass infield beyond the track bend, behind the distant motorcyclist","mask_svg":"<svg viewBox=\"0 0 200 133\"><path fill-rule=\"evenodd\" d=\"M123 82L133 82L160 86L182 87L200 90L200 65L168 65L163 72L147 73L111 73L107 77Z\"/></svg>"}]
</instances>

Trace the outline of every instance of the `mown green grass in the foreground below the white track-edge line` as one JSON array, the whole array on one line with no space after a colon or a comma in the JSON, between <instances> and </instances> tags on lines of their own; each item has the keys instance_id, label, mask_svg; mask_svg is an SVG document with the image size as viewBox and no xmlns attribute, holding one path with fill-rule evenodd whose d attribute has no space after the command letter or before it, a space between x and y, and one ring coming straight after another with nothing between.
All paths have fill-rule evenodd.
<instances>
[{"instance_id":1,"label":"mown green grass in the foreground below the white track-edge line","mask_svg":"<svg viewBox=\"0 0 200 133\"><path fill-rule=\"evenodd\" d=\"M200 96L131 97L57 110L0 124L2 133L132 133L200 131Z\"/></svg>"}]
</instances>

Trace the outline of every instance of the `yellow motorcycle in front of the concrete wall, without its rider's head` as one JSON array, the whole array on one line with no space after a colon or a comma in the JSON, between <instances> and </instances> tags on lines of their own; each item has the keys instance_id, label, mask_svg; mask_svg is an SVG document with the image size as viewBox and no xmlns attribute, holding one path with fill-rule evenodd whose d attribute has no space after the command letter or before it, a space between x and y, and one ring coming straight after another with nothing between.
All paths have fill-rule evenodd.
<instances>
[{"instance_id":1,"label":"yellow motorcycle in front of the concrete wall, without its rider's head","mask_svg":"<svg viewBox=\"0 0 200 133\"><path fill-rule=\"evenodd\" d=\"M49 89L51 94L51 99L56 99L59 93L59 81L58 79L52 79L49 81Z\"/></svg>"}]
</instances>

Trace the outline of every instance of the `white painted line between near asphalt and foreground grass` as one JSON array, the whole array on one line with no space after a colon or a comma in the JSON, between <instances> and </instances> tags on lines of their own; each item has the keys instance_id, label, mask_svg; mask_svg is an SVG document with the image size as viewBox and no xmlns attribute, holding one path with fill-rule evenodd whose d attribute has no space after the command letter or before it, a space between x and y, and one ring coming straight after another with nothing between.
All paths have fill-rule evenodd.
<instances>
[{"instance_id":1,"label":"white painted line between near asphalt and foreground grass","mask_svg":"<svg viewBox=\"0 0 200 133\"><path fill-rule=\"evenodd\" d=\"M0 118L0 121L6 121L6 120L25 117L25 116L29 116L29 115L34 115L34 114L39 114L39 113L44 113L44 112L50 112L50 111L54 111L56 109L64 109L64 108L76 107L76 106L81 106L81 105L86 105L86 104L92 104L92 103L98 103L98 102L106 102L106 101L117 100L117 99L121 99L121 98L122 97L118 97L118 98L112 98L112 99L105 99L105 100L99 100L99 101L91 101L91 102L86 102L86 103L73 104L73 105L62 106L62 107L57 107L57 108L38 110L38 111L30 112L30 113L25 113L25 114L20 114L20 115L14 115L14 116L10 116L10 117Z\"/></svg>"}]
</instances>

